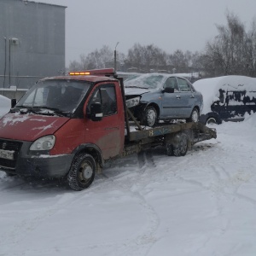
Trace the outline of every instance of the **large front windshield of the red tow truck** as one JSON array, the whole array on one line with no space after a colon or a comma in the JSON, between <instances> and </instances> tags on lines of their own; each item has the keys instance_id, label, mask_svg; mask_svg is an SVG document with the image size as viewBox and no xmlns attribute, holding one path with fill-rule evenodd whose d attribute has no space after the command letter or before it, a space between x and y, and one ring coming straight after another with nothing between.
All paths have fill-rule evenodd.
<instances>
[{"instance_id":1,"label":"large front windshield of the red tow truck","mask_svg":"<svg viewBox=\"0 0 256 256\"><path fill-rule=\"evenodd\" d=\"M90 88L90 83L73 80L39 81L17 103L17 108L73 113Z\"/></svg>"}]
</instances>

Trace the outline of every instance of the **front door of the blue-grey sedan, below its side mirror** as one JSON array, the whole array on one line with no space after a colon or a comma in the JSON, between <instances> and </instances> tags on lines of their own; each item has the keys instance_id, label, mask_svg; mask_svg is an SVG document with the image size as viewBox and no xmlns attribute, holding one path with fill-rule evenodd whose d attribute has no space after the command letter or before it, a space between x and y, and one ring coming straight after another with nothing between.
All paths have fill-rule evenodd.
<instances>
[{"instance_id":1,"label":"front door of the blue-grey sedan, below its side mirror","mask_svg":"<svg viewBox=\"0 0 256 256\"><path fill-rule=\"evenodd\" d=\"M177 78L170 77L164 84L164 89L172 88L174 92L164 92L162 94L162 108L160 111L160 118L179 118L183 117L181 108L183 107L181 102L181 93L177 86Z\"/></svg>"}]
</instances>

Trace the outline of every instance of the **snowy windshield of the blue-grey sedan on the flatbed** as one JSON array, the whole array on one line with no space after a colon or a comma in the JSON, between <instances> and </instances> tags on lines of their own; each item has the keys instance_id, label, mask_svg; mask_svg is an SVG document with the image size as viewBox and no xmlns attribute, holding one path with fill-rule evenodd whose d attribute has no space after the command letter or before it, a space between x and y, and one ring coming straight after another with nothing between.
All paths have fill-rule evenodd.
<instances>
[{"instance_id":1,"label":"snowy windshield of the blue-grey sedan on the flatbed","mask_svg":"<svg viewBox=\"0 0 256 256\"><path fill-rule=\"evenodd\" d=\"M135 79L125 81L125 87L137 87L145 89L157 89L160 88L161 84L164 84L166 76L161 74L145 74Z\"/></svg>"}]
</instances>

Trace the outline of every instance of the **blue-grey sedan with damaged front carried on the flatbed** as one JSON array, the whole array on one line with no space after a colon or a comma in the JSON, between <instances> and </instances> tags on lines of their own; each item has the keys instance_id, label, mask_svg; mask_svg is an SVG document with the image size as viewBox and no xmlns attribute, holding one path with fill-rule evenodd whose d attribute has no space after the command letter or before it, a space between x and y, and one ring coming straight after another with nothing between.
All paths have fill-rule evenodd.
<instances>
[{"instance_id":1,"label":"blue-grey sedan with damaged front carried on the flatbed","mask_svg":"<svg viewBox=\"0 0 256 256\"><path fill-rule=\"evenodd\" d=\"M160 120L199 120L203 98L187 79L172 74L146 73L124 84L126 106L141 125L153 127Z\"/></svg>"}]
</instances>

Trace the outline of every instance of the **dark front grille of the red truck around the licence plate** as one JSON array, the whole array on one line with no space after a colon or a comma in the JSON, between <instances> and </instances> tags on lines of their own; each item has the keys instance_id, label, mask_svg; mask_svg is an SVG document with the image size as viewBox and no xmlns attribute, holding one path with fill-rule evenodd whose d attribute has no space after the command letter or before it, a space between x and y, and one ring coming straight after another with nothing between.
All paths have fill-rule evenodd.
<instances>
[{"instance_id":1,"label":"dark front grille of the red truck around the licence plate","mask_svg":"<svg viewBox=\"0 0 256 256\"><path fill-rule=\"evenodd\" d=\"M22 143L20 142L0 139L0 149L15 151L14 160L0 158L0 166L6 167L8 169L15 169L21 146Z\"/></svg>"}]
</instances>

